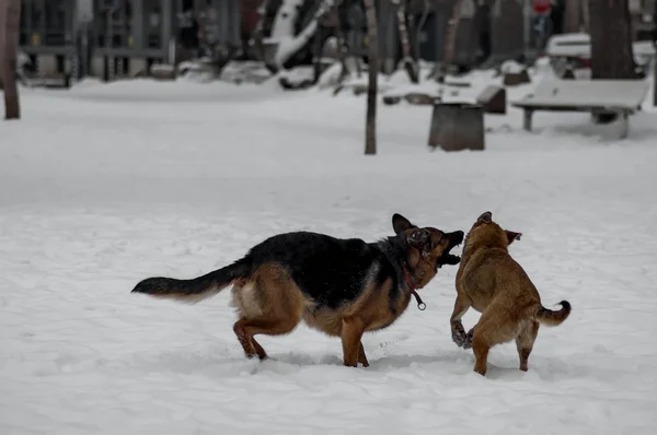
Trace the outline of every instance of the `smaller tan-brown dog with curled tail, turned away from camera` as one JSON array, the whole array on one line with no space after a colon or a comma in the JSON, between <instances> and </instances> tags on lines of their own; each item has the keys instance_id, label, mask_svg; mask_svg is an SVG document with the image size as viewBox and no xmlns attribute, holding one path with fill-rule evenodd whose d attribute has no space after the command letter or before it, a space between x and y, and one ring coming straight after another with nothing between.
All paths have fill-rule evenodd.
<instances>
[{"instance_id":1,"label":"smaller tan-brown dog with curled tail, turned away from camera","mask_svg":"<svg viewBox=\"0 0 657 435\"><path fill-rule=\"evenodd\" d=\"M508 246L519 240L521 233L503 230L485 212L465 237L459 271L457 302L451 315L452 340L464 349L472 348L474 372L485 376L488 350L499 343L516 340L520 369L527 362L539 333L539 325L557 326L568 318L570 304L553 311L541 305L541 296L525 270L509 255ZM482 313L479 322L468 333L461 318L473 307Z\"/></svg>"}]
</instances>

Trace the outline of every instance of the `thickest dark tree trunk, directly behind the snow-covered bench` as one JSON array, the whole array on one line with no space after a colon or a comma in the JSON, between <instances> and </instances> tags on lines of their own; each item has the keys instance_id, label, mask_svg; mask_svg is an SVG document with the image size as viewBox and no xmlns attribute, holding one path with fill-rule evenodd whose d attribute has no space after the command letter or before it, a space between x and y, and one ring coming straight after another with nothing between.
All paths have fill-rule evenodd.
<instances>
[{"instance_id":1,"label":"thickest dark tree trunk, directly behind the snow-covered bench","mask_svg":"<svg viewBox=\"0 0 657 435\"><path fill-rule=\"evenodd\" d=\"M593 79L635 79L627 0L588 0Z\"/></svg>"}]
</instances>

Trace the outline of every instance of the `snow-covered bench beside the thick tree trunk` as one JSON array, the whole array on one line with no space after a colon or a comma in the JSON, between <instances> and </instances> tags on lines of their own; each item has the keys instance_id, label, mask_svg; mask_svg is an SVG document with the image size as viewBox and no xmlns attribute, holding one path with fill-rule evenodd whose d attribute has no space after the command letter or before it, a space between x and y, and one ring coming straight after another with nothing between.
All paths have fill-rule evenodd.
<instances>
[{"instance_id":1,"label":"snow-covered bench beside the thick tree trunk","mask_svg":"<svg viewBox=\"0 0 657 435\"><path fill-rule=\"evenodd\" d=\"M621 139L625 139L627 117L639 109L647 92L648 83L644 80L549 80L511 105L525 110L523 128L528 131L537 110L616 113L621 119Z\"/></svg>"}]
</instances>

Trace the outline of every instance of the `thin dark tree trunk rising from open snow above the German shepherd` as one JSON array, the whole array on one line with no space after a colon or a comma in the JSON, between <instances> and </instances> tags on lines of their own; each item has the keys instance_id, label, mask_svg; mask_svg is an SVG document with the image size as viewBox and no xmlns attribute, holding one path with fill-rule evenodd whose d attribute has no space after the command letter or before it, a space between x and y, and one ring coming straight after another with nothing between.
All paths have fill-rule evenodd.
<instances>
[{"instance_id":1,"label":"thin dark tree trunk rising from open snow above the German shepherd","mask_svg":"<svg viewBox=\"0 0 657 435\"><path fill-rule=\"evenodd\" d=\"M367 17L367 47L369 83L365 127L365 154L377 154L377 79L379 75L379 37L377 36L377 7L374 0L364 0Z\"/></svg>"}]
</instances>

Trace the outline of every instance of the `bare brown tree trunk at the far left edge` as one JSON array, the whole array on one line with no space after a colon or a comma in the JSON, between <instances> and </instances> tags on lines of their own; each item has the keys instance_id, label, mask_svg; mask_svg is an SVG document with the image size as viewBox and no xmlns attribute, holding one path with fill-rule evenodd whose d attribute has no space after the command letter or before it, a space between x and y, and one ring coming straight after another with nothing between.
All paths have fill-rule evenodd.
<instances>
[{"instance_id":1,"label":"bare brown tree trunk at the far left edge","mask_svg":"<svg viewBox=\"0 0 657 435\"><path fill-rule=\"evenodd\" d=\"M4 49L2 56L2 82L4 84L4 119L21 119L21 104L16 87L16 51L21 0L5 0Z\"/></svg>"}]
</instances>

